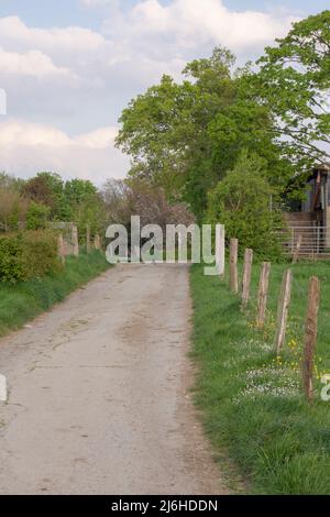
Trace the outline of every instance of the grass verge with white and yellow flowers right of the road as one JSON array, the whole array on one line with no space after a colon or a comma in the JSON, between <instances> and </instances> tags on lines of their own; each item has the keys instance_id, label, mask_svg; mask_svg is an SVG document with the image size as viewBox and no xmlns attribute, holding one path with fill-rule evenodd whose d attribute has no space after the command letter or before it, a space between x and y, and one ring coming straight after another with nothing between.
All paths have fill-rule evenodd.
<instances>
[{"instance_id":1,"label":"grass verge with white and yellow flowers right of the road","mask_svg":"<svg viewBox=\"0 0 330 517\"><path fill-rule=\"evenodd\" d=\"M204 276L199 265L191 267L193 355L199 365L196 402L216 450L220 454L227 451L234 460L248 482L246 492L329 494L330 403L321 402L317 378L315 402L305 402L298 363L308 278L317 275L322 292L316 377L330 374L330 264L293 266L289 329L282 359L277 360L273 352L274 316L285 267L272 266L265 331L253 324L257 264L248 315L240 311L240 300L229 293L227 280ZM219 463L221 468L221 460Z\"/></svg>"}]
</instances>

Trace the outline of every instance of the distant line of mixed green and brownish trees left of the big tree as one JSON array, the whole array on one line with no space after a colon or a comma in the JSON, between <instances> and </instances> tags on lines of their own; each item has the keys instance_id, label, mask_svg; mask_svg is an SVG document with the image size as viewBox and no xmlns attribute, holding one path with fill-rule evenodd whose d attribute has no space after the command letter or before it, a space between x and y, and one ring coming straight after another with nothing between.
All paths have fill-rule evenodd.
<instances>
[{"instance_id":1,"label":"distant line of mixed green and brownish trees left of the big tree","mask_svg":"<svg viewBox=\"0 0 330 517\"><path fill-rule=\"evenodd\" d=\"M52 222L73 222L84 240L103 233L110 223L130 227L131 216L142 224L190 223L185 204L169 204L163 188L142 180L108 179L101 188L89 179L64 180L42 172L30 179L0 173L0 230L42 230Z\"/></svg>"}]
</instances>

